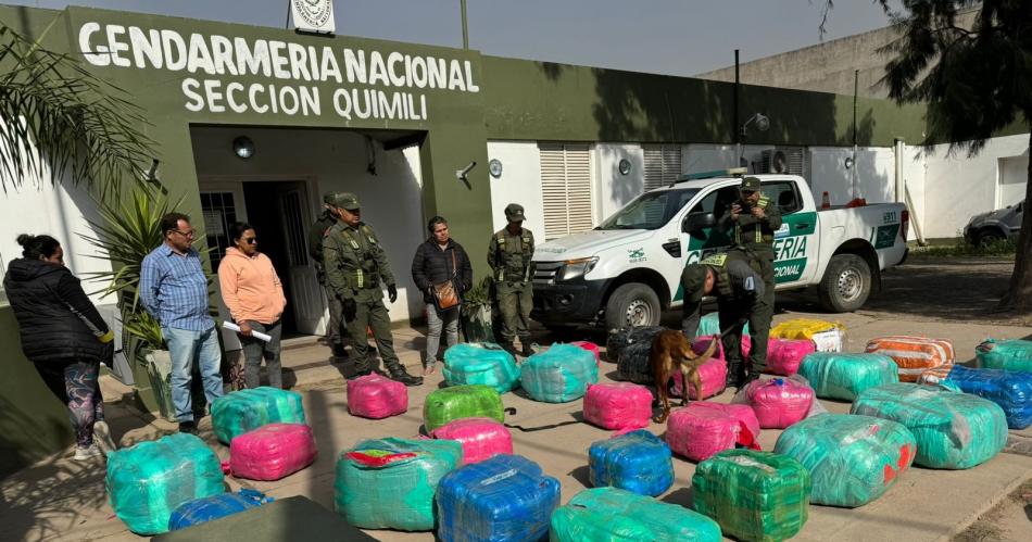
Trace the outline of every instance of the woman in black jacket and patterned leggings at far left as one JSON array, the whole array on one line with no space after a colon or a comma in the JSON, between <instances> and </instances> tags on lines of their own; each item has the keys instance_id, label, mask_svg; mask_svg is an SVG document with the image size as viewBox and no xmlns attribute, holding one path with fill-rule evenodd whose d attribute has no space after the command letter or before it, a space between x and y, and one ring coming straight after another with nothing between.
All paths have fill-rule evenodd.
<instances>
[{"instance_id":1,"label":"woman in black jacket and patterned leggings at far left","mask_svg":"<svg viewBox=\"0 0 1032 542\"><path fill-rule=\"evenodd\" d=\"M18 323L22 352L68 405L75 459L100 457L114 449L97 381L101 362L110 363L114 354L114 333L64 266L56 239L23 234L17 242L23 257L11 261L3 289Z\"/></svg>"}]
</instances>

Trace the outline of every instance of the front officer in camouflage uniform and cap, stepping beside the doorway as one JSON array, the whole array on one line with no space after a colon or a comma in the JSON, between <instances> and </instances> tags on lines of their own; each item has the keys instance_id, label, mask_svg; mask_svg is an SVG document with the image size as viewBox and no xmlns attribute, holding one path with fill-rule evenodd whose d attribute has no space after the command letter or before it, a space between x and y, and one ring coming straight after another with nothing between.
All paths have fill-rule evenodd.
<instances>
[{"instance_id":1,"label":"front officer in camouflage uniform and cap, stepping beside the doorway","mask_svg":"<svg viewBox=\"0 0 1032 542\"><path fill-rule=\"evenodd\" d=\"M367 224L362 222L358 198L351 192L338 192L331 198L337 224L323 238L323 262L326 278L340 298L351 348L354 350L355 377L373 373L369 364L369 343L366 329L373 329L376 348L393 380L405 386L419 386L423 377L410 375L394 353L391 320L383 306L387 286L391 303L398 300L394 275L379 240Z\"/></svg>"}]
</instances>

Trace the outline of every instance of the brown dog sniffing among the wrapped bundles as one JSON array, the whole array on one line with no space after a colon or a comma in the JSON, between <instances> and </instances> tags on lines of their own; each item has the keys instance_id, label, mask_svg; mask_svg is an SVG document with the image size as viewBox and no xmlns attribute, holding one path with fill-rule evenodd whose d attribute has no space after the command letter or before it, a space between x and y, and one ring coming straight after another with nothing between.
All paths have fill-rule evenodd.
<instances>
[{"instance_id":1,"label":"brown dog sniffing among the wrapped bundles","mask_svg":"<svg viewBox=\"0 0 1032 542\"><path fill-rule=\"evenodd\" d=\"M695 354L684 333L672 329L660 331L652 341L649 366L652 367L652 374L656 379L656 394L659 396L663 414L652 418L653 421L663 424L670 415L670 398L667 386L670 383L670 377L674 377L678 371L681 373L682 382L684 383L684 396L681 399L681 406L688 404L689 382L695 388L695 399L702 400L703 381L699 377L699 367L709 361L716 349L717 340L715 339L705 352Z\"/></svg>"}]
</instances>

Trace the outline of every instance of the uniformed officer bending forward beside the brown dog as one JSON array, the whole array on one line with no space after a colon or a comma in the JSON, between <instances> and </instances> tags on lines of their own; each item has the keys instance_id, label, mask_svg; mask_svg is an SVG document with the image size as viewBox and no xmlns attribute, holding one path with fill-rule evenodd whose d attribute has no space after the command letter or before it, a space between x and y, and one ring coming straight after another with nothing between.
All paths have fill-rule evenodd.
<instances>
[{"instance_id":1,"label":"uniformed officer bending forward beside the brown dog","mask_svg":"<svg viewBox=\"0 0 1032 542\"><path fill-rule=\"evenodd\" d=\"M704 295L717 297L725 360L728 362L728 386L741 388L759 378L765 368L750 353L748 363L742 362L742 328L748 323L748 335L755 352L756 344L766 344L770 331L766 305L766 287L758 273L750 265L748 256L732 250L707 256L681 272L684 291L684 318L681 328L693 338L699 329Z\"/></svg>"}]
</instances>

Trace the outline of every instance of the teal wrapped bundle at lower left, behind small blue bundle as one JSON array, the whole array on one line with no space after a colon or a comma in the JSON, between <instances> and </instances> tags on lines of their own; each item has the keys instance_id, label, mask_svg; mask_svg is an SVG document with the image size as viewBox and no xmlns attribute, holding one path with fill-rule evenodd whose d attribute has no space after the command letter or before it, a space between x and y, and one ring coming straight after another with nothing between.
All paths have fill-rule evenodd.
<instances>
[{"instance_id":1,"label":"teal wrapped bundle at lower left, behind small blue bundle","mask_svg":"<svg viewBox=\"0 0 1032 542\"><path fill-rule=\"evenodd\" d=\"M166 532L179 505L226 491L215 452L188 433L112 452L105 483L111 508L137 534Z\"/></svg>"}]
</instances>

